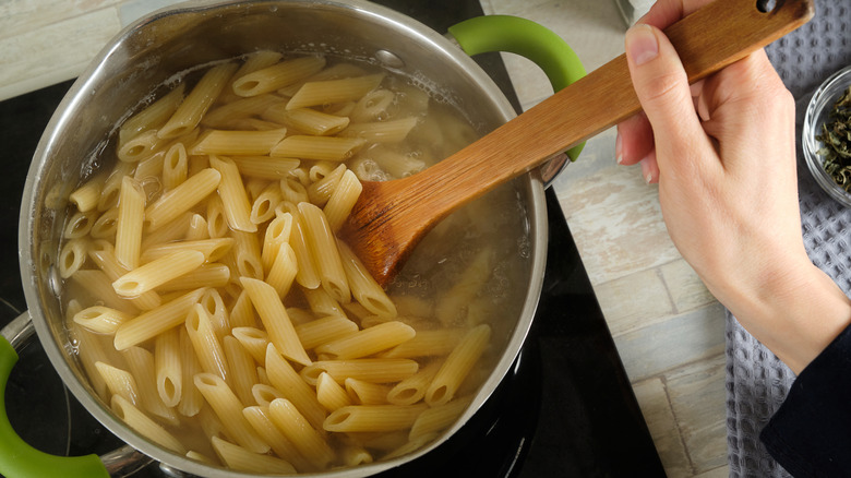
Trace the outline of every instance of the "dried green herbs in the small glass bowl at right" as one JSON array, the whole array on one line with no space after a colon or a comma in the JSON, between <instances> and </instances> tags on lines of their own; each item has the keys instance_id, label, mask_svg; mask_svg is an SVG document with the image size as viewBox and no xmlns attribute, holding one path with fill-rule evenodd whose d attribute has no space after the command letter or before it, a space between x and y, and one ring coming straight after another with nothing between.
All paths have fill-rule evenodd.
<instances>
[{"instance_id":1,"label":"dried green herbs in the small glass bowl at right","mask_svg":"<svg viewBox=\"0 0 851 478\"><path fill-rule=\"evenodd\" d=\"M822 124L816 140L824 143L818 155L825 158L825 171L839 187L851 192L851 85L836 100L828 113L829 122Z\"/></svg>"}]
</instances>

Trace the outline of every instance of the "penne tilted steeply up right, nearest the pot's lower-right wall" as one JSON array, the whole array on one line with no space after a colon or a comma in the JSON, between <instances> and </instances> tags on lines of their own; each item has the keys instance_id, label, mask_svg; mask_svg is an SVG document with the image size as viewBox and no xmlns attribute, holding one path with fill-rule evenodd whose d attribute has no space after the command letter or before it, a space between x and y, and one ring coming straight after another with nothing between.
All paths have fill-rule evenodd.
<instances>
[{"instance_id":1,"label":"penne tilted steeply up right, nearest the pot's lower-right wall","mask_svg":"<svg viewBox=\"0 0 851 478\"><path fill-rule=\"evenodd\" d=\"M458 386L479 360L491 338L491 327L482 324L471 328L462 338L438 371L425 391L425 403L431 406L450 402Z\"/></svg>"}]
</instances>

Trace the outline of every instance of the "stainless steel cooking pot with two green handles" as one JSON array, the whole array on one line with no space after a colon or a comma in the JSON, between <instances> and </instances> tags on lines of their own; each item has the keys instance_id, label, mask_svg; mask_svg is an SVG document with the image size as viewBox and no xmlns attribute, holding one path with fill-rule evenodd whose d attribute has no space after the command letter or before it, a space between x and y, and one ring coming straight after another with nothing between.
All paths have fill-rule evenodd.
<instances>
[{"instance_id":1,"label":"stainless steel cooking pot with two green handles","mask_svg":"<svg viewBox=\"0 0 851 478\"><path fill-rule=\"evenodd\" d=\"M487 17L486 17L487 19ZM578 60L558 37L519 19L494 19L459 25L458 43L471 53L512 49L538 57L561 87L584 74ZM499 40L481 41L479 28ZM508 25L508 26L506 26ZM507 28L507 29L506 29ZM505 40L512 36L517 46ZM542 45L529 35L543 39ZM475 41L468 41L475 37ZM519 41L519 43L517 43ZM466 45L465 45L466 44ZM67 198L80 179L97 169L110 133L139 98L194 65L232 58L256 49L323 52L356 57L421 79L456 103L482 131L507 121L514 111L491 79L462 48L424 25L392 10L352 0L335 1L194 1L155 12L120 33L74 83L50 120L35 153L24 191L20 224L21 274L28 313L5 334L32 323L53 367L85 408L133 449L175 468L209 477L242 476L176 455L135 433L104 404L74 360L63 327L59 296L63 284L57 255L67 214ZM576 153L576 152L574 152ZM556 171L559 168L555 168ZM543 182L531 174L520 180L529 212L532 261L522 315L495 370L464 416L431 445L401 458L329 471L322 476L364 476L428 453L457 431L495 389L515 359L535 314L543 280L547 212ZM8 338L16 343L17 339ZM0 343L0 379L8 378L16 356ZM4 383L4 382L3 382ZM62 458L40 454L20 441L0 420L0 471L7 476L62 469L65 476L104 474L97 457ZM16 440L16 441L15 441ZM5 456L8 459L3 458ZM28 462L34 462L28 464ZM60 467L60 468L57 468Z\"/></svg>"}]
</instances>

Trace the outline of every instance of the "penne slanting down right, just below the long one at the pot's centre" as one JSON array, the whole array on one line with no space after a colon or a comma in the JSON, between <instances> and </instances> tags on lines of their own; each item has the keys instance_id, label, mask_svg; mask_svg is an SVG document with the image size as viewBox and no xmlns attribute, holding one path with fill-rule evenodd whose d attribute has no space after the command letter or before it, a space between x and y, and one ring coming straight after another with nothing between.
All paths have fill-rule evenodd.
<instances>
[{"instance_id":1,"label":"penne slanting down right, just below the long one at the pot's centre","mask_svg":"<svg viewBox=\"0 0 851 478\"><path fill-rule=\"evenodd\" d=\"M316 429L322 428L325 409L316 398L316 392L308 386L292 366L284 359L274 344L266 347L266 375L268 381Z\"/></svg>"}]
</instances>

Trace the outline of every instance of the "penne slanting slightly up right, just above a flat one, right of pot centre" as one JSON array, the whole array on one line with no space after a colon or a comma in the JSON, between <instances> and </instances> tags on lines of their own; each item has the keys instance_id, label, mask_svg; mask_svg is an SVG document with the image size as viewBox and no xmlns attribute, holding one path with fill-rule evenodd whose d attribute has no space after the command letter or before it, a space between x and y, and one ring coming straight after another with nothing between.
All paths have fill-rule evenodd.
<instances>
[{"instance_id":1,"label":"penne slanting slightly up right, just above a flat one, right of pot centre","mask_svg":"<svg viewBox=\"0 0 851 478\"><path fill-rule=\"evenodd\" d=\"M317 354L345 360L367 357L410 340L417 332L398 321L386 322L343 336L316 347Z\"/></svg>"}]
</instances>

